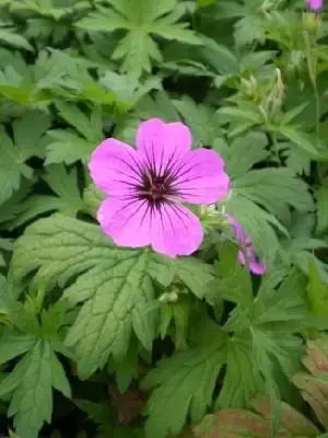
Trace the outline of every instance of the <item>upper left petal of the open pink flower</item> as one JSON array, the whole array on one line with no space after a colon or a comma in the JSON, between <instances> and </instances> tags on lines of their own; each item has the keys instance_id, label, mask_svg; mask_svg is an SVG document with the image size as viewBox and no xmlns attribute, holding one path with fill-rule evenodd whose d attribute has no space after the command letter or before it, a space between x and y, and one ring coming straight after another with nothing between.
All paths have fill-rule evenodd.
<instances>
[{"instance_id":1,"label":"upper left petal of the open pink flower","mask_svg":"<svg viewBox=\"0 0 328 438\"><path fill-rule=\"evenodd\" d=\"M114 138L104 140L89 162L95 185L108 195L127 194L141 183L141 166L137 151Z\"/></svg>"}]
</instances>

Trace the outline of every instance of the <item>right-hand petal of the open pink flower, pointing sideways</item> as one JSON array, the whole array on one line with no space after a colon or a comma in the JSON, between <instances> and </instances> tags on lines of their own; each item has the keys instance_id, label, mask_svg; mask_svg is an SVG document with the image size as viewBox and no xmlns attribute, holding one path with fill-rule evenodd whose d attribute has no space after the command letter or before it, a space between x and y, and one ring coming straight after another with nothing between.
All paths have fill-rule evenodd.
<instances>
[{"instance_id":1,"label":"right-hand petal of the open pink flower, pointing sideways","mask_svg":"<svg viewBox=\"0 0 328 438\"><path fill-rule=\"evenodd\" d=\"M197 149L184 155L174 169L177 173L175 188L181 200L213 204L230 192L224 161L215 151Z\"/></svg>"}]
</instances>

